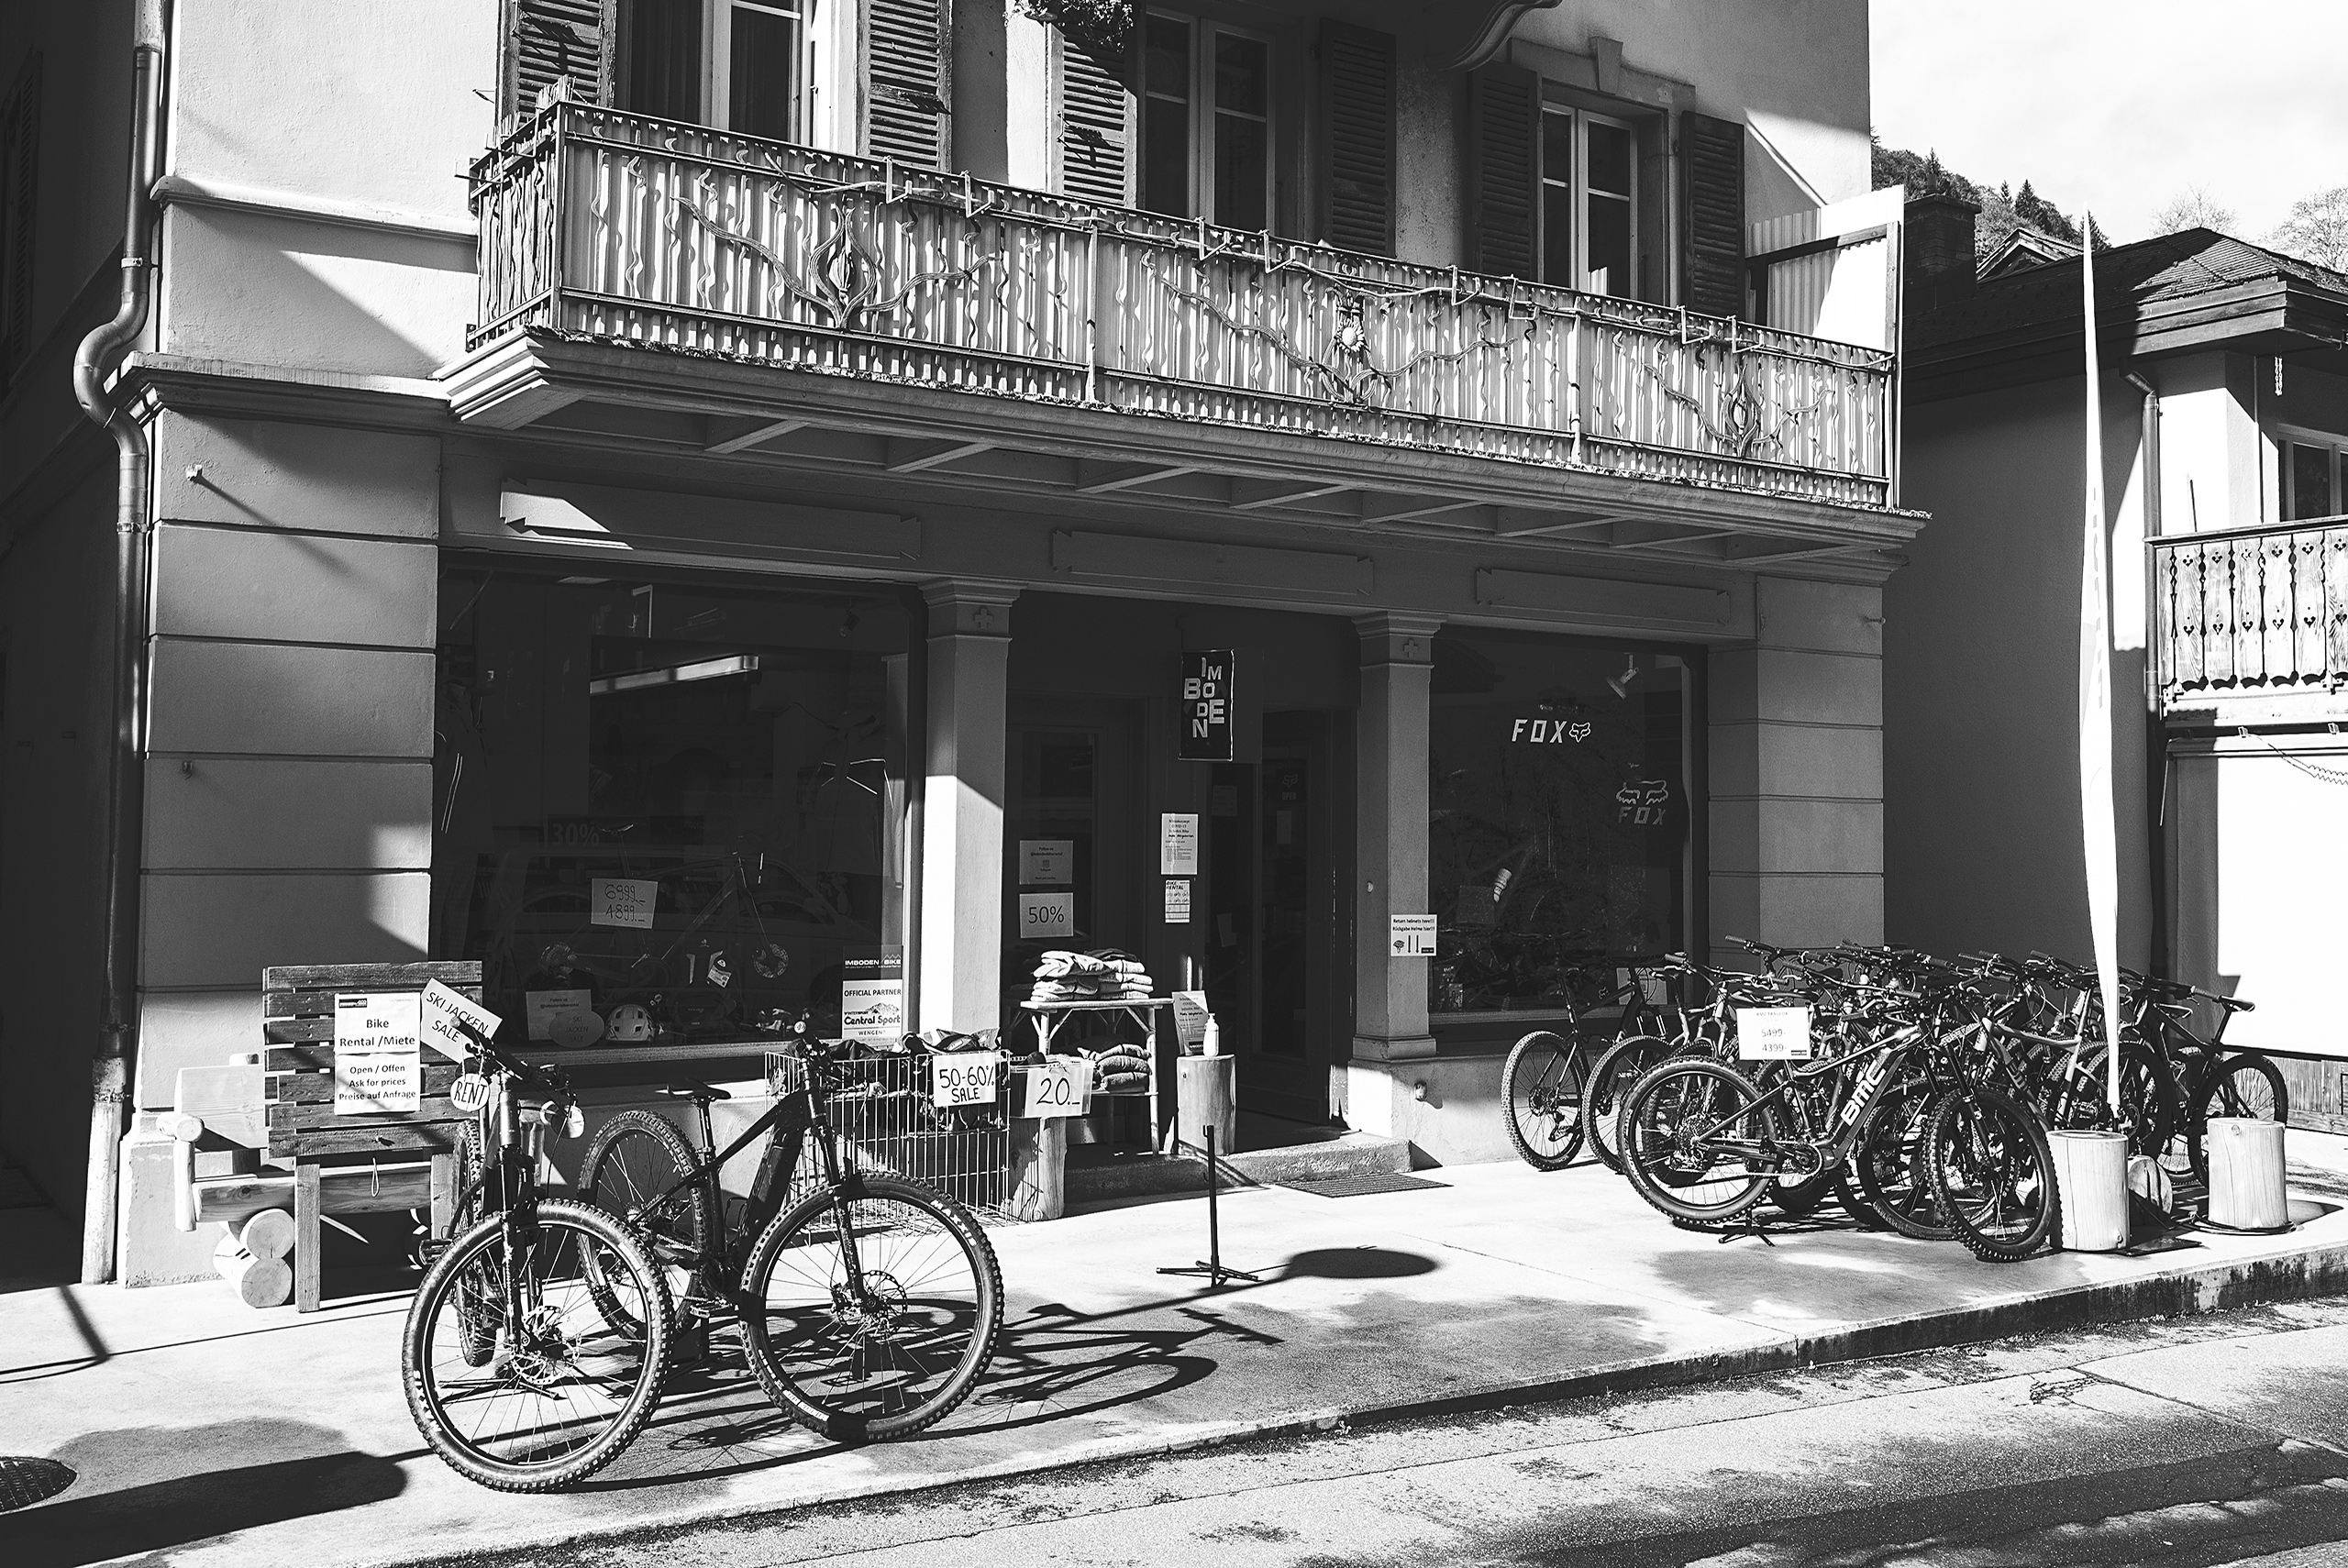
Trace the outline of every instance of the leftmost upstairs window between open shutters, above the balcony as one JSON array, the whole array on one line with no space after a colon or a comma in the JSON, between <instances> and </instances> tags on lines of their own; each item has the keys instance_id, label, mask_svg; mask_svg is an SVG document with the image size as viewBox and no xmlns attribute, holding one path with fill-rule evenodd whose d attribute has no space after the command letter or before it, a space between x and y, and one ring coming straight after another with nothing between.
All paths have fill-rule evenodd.
<instances>
[{"instance_id":1,"label":"leftmost upstairs window between open shutters, above the balcony","mask_svg":"<svg viewBox=\"0 0 2348 1568\"><path fill-rule=\"evenodd\" d=\"M620 108L747 136L808 141L812 0L629 0Z\"/></svg>"}]
</instances>

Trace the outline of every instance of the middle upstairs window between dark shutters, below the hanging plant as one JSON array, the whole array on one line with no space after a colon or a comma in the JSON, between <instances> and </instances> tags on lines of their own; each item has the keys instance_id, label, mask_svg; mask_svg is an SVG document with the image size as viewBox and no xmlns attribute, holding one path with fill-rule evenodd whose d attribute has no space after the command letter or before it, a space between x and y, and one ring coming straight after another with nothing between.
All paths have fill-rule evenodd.
<instances>
[{"instance_id":1,"label":"middle upstairs window between dark shutters, below the hanging plant","mask_svg":"<svg viewBox=\"0 0 2348 1568\"><path fill-rule=\"evenodd\" d=\"M1270 228L1268 40L1172 12L1148 14L1141 207L1226 228Z\"/></svg>"}]
</instances>

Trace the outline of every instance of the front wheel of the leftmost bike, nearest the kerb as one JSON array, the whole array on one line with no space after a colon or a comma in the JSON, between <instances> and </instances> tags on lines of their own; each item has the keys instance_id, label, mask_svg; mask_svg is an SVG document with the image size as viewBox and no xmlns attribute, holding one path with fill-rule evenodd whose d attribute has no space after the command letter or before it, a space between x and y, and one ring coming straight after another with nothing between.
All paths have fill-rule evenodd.
<instances>
[{"instance_id":1,"label":"front wheel of the leftmost bike, nearest the kerb","mask_svg":"<svg viewBox=\"0 0 2348 1568\"><path fill-rule=\"evenodd\" d=\"M629 1293L629 1324L596 1305L606 1291ZM474 1361L484 1333L491 1354ZM667 1359L667 1286L643 1246L601 1209L554 1199L451 1242L402 1338L416 1430L460 1476L507 1493L575 1486L620 1458L660 1406Z\"/></svg>"}]
</instances>

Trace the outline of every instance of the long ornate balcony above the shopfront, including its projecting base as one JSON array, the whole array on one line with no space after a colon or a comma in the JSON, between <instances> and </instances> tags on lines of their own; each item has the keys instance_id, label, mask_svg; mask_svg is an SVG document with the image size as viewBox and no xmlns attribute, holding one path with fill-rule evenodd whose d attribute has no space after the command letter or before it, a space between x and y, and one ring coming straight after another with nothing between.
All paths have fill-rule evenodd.
<instances>
[{"instance_id":1,"label":"long ornate balcony above the shopfront, including its projecting base","mask_svg":"<svg viewBox=\"0 0 2348 1568\"><path fill-rule=\"evenodd\" d=\"M1078 493L1221 472L1233 507L1709 563L1876 552L1916 521L1892 512L1892 354L1867 347L578 103L474 167L474 214L453 401L486 425L641 390L657 359L669 408L679 366L723 366L733 401L702 406L740 434L707 451L862 411L965 437L918 467L1024 444L1134 465L1071 469Z\"/></svg>"}]
</instances>

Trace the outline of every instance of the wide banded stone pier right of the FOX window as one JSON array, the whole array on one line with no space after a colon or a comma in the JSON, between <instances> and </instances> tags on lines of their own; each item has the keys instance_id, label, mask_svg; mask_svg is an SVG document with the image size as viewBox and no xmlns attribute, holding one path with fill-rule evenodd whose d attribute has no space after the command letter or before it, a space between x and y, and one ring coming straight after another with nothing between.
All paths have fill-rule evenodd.
<instances>
[{"instance_id":1,"label":"wide banded stone pier right of the FOX window","mask_svg":"<svg viewBox=\"0 0 2348 1568\"><path fill-rule=\"evenodd\" d=\"M1712 958L1883 941L1883 589L1754 582L1712 669Z\"/></svg>"}]
</instances>

